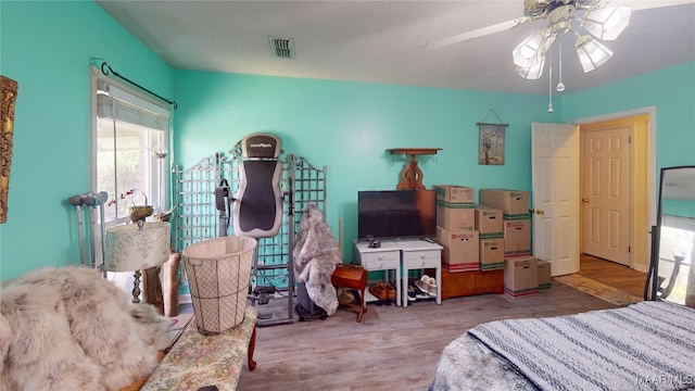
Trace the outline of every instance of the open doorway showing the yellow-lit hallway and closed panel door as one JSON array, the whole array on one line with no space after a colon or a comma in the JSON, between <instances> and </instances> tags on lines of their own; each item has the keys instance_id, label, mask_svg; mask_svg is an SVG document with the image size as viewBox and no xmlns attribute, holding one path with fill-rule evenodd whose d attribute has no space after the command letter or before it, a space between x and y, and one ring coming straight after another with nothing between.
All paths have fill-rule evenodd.
<instances>
[{"instance_id":1,"label":"open doorway showing the yellow-lit hallway and closed panel door","mask_svg":"<svg viewBox=\"0 0 695 391\"><path fill-rule=\"evenodd\" d=\"M646 272L650 116L580 126L580 252Z\"/></svg>"}]
</instances>

